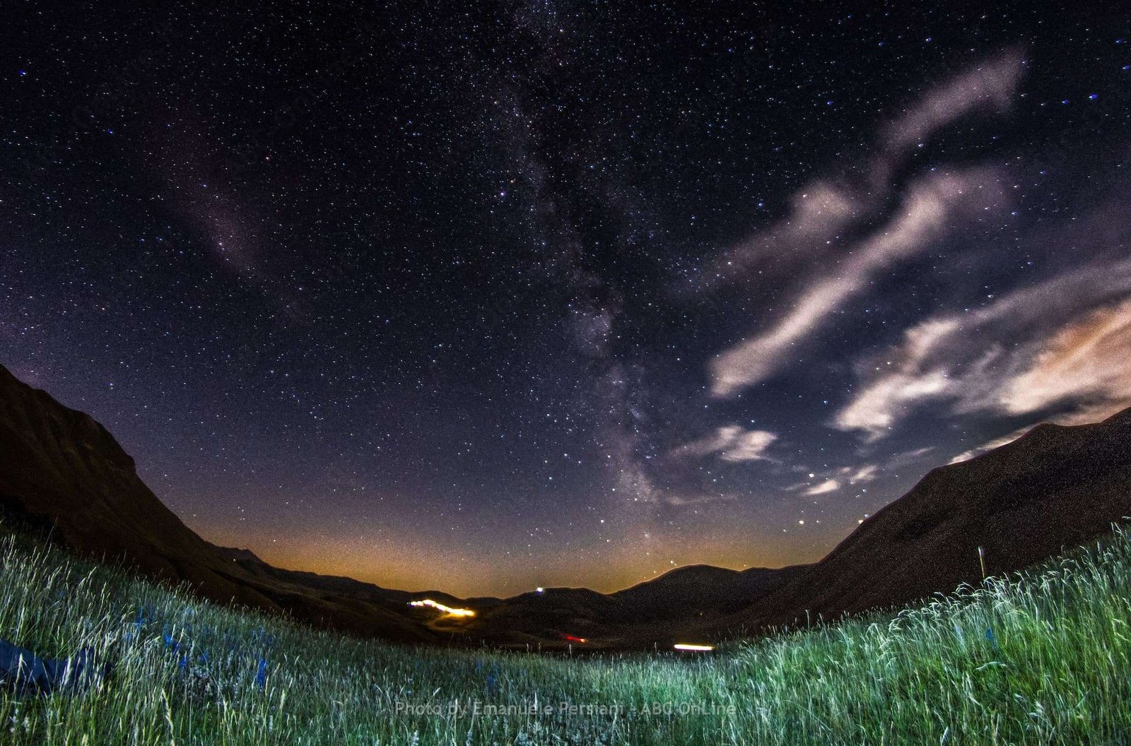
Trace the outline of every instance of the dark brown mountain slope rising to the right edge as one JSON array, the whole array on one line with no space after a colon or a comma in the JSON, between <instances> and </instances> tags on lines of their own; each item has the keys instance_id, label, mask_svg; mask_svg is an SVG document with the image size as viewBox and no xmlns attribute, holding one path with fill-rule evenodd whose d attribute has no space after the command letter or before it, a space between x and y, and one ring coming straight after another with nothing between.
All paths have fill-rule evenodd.
<instances>
[{"instance_id":1,"label":"dark brown mountain slope rising to the right edge","mask_svg":"<svg viewBox=\"0 0 1131 746\"><path fill-rule=\"evenodd\" d=\"M1102 423L1038 425L939 467L823 560L727 621L793 624L909 604L1086 544L1131 515L1131 409Z\"/></svg>"}]
</instances>

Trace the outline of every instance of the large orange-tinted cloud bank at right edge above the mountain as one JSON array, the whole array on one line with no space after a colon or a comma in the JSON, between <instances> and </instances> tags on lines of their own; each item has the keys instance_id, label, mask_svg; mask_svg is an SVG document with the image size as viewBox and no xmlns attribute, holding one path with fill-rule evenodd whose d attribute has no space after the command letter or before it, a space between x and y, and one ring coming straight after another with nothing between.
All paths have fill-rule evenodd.
<instances>
[{"instance_id":1,"label":"large orange-tinted cloud bank at right edge above the mountain","mask_svg":"<svg viewBox=\"0 0 1131 746\"><path fill-rule=\"evenodd\" d=\"M955 414L1060 408L1053 419L1063 424L1113 414L1131 406L1131 259L1096 261L977 311L930 318L860 370L856 394L832 424L869 441L931 400L949 400Z\"/></svg>"}]
</instances>

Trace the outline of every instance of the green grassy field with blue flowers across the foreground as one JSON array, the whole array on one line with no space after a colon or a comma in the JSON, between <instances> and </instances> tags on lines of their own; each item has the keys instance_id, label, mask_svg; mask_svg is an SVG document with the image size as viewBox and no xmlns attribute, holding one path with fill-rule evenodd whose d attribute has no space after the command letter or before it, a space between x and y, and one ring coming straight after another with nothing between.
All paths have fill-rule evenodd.
<instances>
[{"instance_id":1,"label":"green grassy field with blue flowers across the foreground","mask_svg":"<svg viewBox=\"0 0 1131 746\"><path fill-rule=\"evenodd\" d=\"M3 744L1116 744L1131 732L1120 531L924 608L708 657L411 649L219 608L18 536L0 556L0 637L116 661L85 694L0 691Z\"/></svg>"}]
</instances>

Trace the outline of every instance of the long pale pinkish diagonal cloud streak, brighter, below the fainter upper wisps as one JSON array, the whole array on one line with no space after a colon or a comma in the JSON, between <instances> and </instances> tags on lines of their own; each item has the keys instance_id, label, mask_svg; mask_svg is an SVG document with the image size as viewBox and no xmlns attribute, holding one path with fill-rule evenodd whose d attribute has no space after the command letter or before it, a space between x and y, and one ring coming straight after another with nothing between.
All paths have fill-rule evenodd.
<instances>
[{"instance_id":1,"label":"long pale pinkish diagonal cloud streak, brighter, below the fainter upper wisps","mask_svg":"<svg viewBox=\"0 0 1131 746\"><path fill-rule=\"evenodd\" d=\"M726 397L769 378L792 359L789 349L796 342L820 329L881 270L922 252L946 235L958 218L984 212L1001 201L998 176L987 170L935 174L918 181L904 208L846 251L834 272L803 288L784 319L711 362L711 393Z\"/></svg>"}]
</instances>

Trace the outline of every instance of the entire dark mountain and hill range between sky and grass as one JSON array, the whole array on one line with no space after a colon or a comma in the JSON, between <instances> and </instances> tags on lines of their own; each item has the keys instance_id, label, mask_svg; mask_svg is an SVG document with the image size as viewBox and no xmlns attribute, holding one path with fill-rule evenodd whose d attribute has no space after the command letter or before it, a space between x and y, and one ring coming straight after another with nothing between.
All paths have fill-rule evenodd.
<instances>
[{"instance_id":1,"label":"entire dark mountain and hill range between sky and grass","mask_svg":"<svg viewBox=\"0 0 1131 746\"><path fill-rule=\"evenodd\" d=\"M667 645L912 602L1060 554L1131 515L1131 409L1103 423L1041 425L962 463L940 467L812 565L694 565L605 595L547 588L461 600L274 567L197 536L137 476L89 415L0 366L0 508L88 557L191 584L222 602L414 642L511 647ZM475 609L458 622L408 601ZM578 642L586 640L586 643Z\"/></svg>"}]
</instances>

